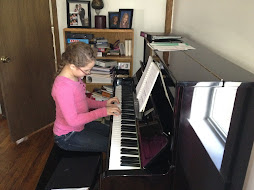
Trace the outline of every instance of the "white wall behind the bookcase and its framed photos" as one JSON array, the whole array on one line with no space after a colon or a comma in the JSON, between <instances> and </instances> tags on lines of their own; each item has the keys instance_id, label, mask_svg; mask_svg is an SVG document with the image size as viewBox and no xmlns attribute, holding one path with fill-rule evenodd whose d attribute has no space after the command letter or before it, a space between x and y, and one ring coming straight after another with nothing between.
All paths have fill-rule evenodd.
<instances>
[{"instance_id":1,"label":"white wall behind the bookcase and its framed photos","mask_svg":"<svg viewBox=\"0 0 254 190\"><path fill-rule=\"evenodd\" d=\"M63 28L67 27L66 19L66 1L57 0L57 14L59 25L59 37L61 52L63 46ZM91 1L92 2L92 1ZM100 15L107 16L108 12L118 11L119 9L134 9L132 28L134 29L134 67L133 71L139 68L139 61L143 60L143 38L140 37L140 31L164 32L166 0L104 0L104 8ZM91 8L92 27L94 27L95 11Z\"/></svg>"}]
</instances>

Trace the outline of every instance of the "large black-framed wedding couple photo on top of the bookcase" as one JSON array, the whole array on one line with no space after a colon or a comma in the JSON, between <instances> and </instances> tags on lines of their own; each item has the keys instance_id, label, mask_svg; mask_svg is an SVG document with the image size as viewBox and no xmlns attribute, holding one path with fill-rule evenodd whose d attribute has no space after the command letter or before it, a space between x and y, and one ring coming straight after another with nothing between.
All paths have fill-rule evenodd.
<instances>
[{"instance_id":1,"label":"large black-framed wedding couple photo on top of the bookcase","mask_svg":"<svg viewBox=\"0 0 254 190\"><path fill-rule=\"evenodd\" d=\"M68 28L91 28L90 1L66 0Z\"/></svg>"}]
</instances>

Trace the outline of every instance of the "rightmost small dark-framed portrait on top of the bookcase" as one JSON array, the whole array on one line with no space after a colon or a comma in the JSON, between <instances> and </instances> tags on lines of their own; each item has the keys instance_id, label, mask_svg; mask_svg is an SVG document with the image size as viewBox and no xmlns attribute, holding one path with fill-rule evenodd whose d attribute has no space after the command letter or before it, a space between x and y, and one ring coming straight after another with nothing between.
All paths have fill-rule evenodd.
<instances>
[{"instance_id":1,"label":"rightmost small dark-framed portrait on top of the bookcase","mask_svg":"<svg viewBox=\"0 0 254 190\"><path fill-rule=\"evenodd\" d=\"M119 28L131 28L133 9L119 9L120 23Z\"/></svg>"}]
</instances>

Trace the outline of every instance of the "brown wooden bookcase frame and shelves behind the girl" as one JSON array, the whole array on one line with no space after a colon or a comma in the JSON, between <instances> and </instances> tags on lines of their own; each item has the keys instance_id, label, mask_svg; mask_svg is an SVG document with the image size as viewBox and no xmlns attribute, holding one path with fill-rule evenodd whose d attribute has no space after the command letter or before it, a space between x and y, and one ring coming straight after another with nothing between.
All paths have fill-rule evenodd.
<instances>
[{"instance_id":1,"label":"brown wooden bookcase frame and shelves behind the girl","mask_svg":"<svg viewBox=\"0 0 254 190\"><path fill-rule=\"evenodd\" d=\"M130 76L133 72L133 48L134 48L134 30L133 29L95 29L95 28L65 28L63 30L64 38L64 48L66 48L67 42L67 33L84 33L84 34L93 34L94 38L104 37L108 40L109 43L114 44L115 41L120 40L123 42L125 40L132 40L131 47L131 56L106 56L106 57L97 57L97 59L112 59L122 62L130 62ZM87 83L87 90L93 91L94 88L100 88L101 83Z\"/></svg>"}]
</instances>

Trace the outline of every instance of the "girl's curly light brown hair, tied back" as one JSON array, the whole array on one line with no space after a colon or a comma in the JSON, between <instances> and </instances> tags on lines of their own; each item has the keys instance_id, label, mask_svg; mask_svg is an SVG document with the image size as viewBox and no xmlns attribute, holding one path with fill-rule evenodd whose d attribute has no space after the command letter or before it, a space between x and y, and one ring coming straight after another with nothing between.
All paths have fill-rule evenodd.
<instances>
[{"instance_id":1,"label":"girl's curly light brown hair, tied back","mask_svg":"<svg viewBox=\"0 0 254 190\"><path fill-rule=\"evenodd\" d=\"M84 67L96 60L96 50L83 42L74 42L66 47L62 54L62 61L58 65L56 76L62 71L66 64L73 64L76 67Z\"/></svg>"}]
</instances>

